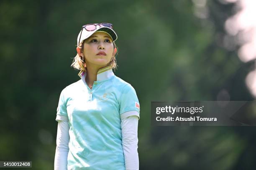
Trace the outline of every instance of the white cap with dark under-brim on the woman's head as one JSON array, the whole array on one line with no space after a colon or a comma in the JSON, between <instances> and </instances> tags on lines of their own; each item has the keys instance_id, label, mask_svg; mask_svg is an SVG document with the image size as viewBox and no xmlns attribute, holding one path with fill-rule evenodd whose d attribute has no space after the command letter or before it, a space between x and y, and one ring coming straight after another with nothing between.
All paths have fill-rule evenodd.
<instances>
[{"instance_id":1,"label":"white cap with dark under-brim on the woman's head","mask_svg":"<svg viewBox=\"0 0 256 170\"><path fill-rule=\"evenodd\" d=\"M81 31L82 31L82 35L80 38ZM112 38L113 41L117 40L117 35L116 35L115 31L109 27L103 27L103 26L100 27L99 25L97 25L96 29L93 31L87 31L87 30L85 30L85 28L83 28L83 30L81 30L81 31L79 32L79 34L77 36L77 47L79 46L79 43L81 43L83 40L89 38L94 32L106 32L108 35L110 35L110 37ZM79 38L80 38L80 42L78 42Z\"/></svg>"}]
</instances>

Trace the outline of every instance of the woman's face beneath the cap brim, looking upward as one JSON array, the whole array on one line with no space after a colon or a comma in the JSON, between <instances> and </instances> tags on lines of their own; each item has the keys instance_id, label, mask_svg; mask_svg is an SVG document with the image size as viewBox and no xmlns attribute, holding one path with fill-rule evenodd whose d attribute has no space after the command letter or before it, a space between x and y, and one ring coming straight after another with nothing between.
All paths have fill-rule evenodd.
<instances>
[{"instance_id":1,"label":"woman's face beneath the cap brim, looking upward","mask_svg":"<svg viewBox=\"0 0 256 170\"><path fill-rule=\"evenodd\" d=\"M104 52L105 54L98 54ZM95 32L84 40L83 49L86 65L105 67L114 55L113 41L105 32Z\"/></svg>"}]
</instances>

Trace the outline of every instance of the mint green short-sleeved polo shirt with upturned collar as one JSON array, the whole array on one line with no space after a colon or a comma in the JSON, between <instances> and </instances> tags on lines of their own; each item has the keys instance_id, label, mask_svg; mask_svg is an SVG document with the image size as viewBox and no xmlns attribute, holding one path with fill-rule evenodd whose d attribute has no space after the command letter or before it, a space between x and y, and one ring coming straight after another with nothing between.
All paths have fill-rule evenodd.
<instances>
[{"instance_id":1,"label":"mint green short-sleeved polo shirt with upturned collar","mask_svg":"<svg viewBox=\"0 0 256 170\"><path fill-rule=\"evenodd\" d=\"M90 89L86 74L62 90L57 117L69 120L68 170L125 170L121 120L136 115L134 88L116 77L110 66L97 73ZM133 112L130 112L133 111Z\"/></svg>"}]
</instances>

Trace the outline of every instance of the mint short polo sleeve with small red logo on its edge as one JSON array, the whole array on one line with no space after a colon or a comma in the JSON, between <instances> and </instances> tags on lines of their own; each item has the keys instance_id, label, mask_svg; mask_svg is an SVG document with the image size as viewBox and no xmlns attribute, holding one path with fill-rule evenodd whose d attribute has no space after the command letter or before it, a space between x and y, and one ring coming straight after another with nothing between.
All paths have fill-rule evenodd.
<instances>
[{"instance_id":1,"label":"mint short polo sleeve with small red logo on its edge","mask_svg":"<svg viewBox=\"0 0 256 170\"><path fill-rule=\"evenodd\" d=\"M130 112L133 111L133 112ZM136 95L136 91L134 88L127 84L123 87L123 90L121 91L121 97L120 97L120 117L121 119L125 118L124 116L126 113L129 114L127 116L136 115L139 117L140 113L140 104L138 101L138 97Z\"/></svg>"}]
</instances>

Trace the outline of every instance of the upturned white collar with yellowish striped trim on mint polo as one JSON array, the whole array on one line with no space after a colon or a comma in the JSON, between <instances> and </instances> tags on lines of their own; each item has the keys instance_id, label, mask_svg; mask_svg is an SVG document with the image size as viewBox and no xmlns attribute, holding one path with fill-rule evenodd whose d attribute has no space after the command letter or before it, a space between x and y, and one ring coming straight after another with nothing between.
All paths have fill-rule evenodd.
<instances>
[{"instance_id":1,"label":"upturned white collar with yellowish striped trim on mint polo","mask_svg":"<svg viewBox=\"0 0 256 170\"><path fill-rule=\"evenodd\" d=\"M97 72L97 81L103 81L103 80L108 80L110 77L112 77L114 74L113 70L111 69L111 66L107 66L104 68L101 68L98 72ZM85 80L85 76L86 76L86 72L84 72L83 70L81 70L78 73L78 76L82 79Z\"/></svg>"}]
</instances>

